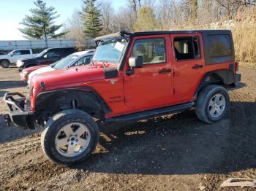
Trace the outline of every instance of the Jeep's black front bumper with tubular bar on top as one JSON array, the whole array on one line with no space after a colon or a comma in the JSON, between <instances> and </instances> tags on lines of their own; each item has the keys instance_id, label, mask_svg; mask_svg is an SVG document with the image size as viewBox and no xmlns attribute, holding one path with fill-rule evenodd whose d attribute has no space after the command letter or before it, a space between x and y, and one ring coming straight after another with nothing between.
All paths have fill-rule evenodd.
<instances>
[{"instance_id":1,"label":"Jeep's black front bumper with tubular bar on top","mask_svg":"<svg viewBox=\"0 0 256 191\"><path fill-rule=\"evenodd\" d=\"M30 111L30 106L25 101L26 97L21 93L5 93L4 102L10 112L4 114L4 120L8 125L13 123L18 128L34 129L34 113Z\"/></svg>"}]
</instances>

